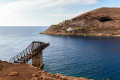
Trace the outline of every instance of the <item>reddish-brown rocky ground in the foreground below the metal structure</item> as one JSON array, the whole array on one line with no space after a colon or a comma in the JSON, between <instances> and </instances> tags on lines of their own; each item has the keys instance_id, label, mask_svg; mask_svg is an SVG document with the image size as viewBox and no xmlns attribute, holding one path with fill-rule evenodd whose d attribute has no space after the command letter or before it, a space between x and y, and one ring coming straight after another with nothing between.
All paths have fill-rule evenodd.
<instances>
[{"instance_id":1,"label":"reddish-brown rocky ground in the foreground below the metal structure","mask_svg":"<svg viewBox=\"0 0 120 80\"><path fill-rule=\"evenodd\" d=\"M30 64L11 64L0 61L0 80L92 80L46 73Z\"/></svg>"}]
</instances>

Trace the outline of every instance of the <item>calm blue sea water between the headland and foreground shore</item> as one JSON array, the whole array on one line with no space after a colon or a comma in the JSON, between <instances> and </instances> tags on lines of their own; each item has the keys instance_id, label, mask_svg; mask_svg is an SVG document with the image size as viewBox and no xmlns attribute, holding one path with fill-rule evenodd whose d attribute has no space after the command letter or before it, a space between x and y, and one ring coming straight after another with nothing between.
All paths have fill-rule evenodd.
<instances>
[{"instance_id":1,"label":"calm blue sea water between the headland and foreground shore","mask_svg":"<svg viewBox=\"0 0 120 80\"><path fill-rule=\"evenodd\" d=\"M47 27L0 27L0 59L8 61L32 41L50 42L44 70L95 80L120 80L120 38L42 35Z\"/></svg>"}]
</instances>

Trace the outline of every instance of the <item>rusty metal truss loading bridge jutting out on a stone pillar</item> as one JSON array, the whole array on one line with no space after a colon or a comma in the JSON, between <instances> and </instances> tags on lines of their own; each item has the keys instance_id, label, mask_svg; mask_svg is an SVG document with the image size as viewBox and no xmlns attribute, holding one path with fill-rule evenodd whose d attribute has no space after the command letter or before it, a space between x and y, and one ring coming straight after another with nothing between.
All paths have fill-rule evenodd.
<instances>
[{"instance_id":1,"label":"rusty metal truss loading bridge jutting out on a stone pillar","mask_svg":"<svg viewBox=\"0 0 120 80\"><path fill-rule=\"evenodd\" d=\"M11 58L11 63L26 63L32 59L36 54L39 54L42 50L49 46L50 43L44 43L39 41L33 41L26 49L21 53Z\"/></svg>"}]
</instances>

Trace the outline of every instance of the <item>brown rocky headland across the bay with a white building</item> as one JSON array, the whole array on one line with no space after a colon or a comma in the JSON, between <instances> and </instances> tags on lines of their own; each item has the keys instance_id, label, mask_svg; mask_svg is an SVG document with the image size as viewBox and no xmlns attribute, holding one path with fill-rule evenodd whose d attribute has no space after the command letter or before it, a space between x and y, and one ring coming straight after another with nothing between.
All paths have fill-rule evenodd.
<instances>
[{"instance_id":1,"label":"brown rocky headland across the bay with a white building","mask_svg":"<svg viewBox=\"0 0 120 80\"><path fill-rule=\"evenodd\" d=\"M120 8L99 8L50 26L42 34L120 36Z\"/></svg>"}]
</instances>

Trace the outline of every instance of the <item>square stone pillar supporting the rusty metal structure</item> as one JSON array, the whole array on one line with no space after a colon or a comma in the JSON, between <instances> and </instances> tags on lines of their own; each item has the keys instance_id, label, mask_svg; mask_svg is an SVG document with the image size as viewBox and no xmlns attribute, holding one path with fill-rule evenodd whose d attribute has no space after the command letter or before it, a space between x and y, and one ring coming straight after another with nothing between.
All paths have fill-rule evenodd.
<instances>
[{"instance_id":1,"label":"square stone pillar supporting the rusty metal structure","mask_svg":"<svg viewBox=\"0 0 120 80\"><path fill-rule=\"evenodd\" d=\"M44 66L42 51L32 57L32 65L39 68Z\"/></svg>"}]
</instances>

